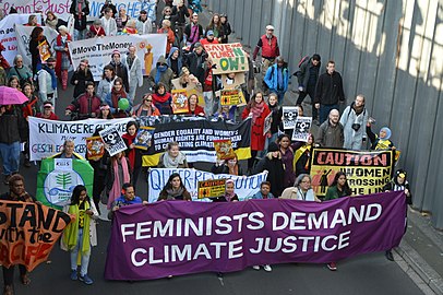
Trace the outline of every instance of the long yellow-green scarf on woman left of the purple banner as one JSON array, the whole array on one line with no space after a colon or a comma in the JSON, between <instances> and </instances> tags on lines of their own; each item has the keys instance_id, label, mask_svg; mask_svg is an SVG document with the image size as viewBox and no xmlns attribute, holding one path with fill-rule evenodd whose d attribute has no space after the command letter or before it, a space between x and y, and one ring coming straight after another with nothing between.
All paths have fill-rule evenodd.
<instances>
[{"instance_id":1,"label":"long yellow-green scarf on woman left of the purple banner","mask_svg":"<svg viewBox=\"0 0 443 295\"><path fill-rule=\"evenodd\" d=\"M91 209L91 204L87 200L83 201L84 203L84 209L82 210L83 212L81 213L80 210L80 204L71 204L69 206L68 213L71 215L75 216L75 220L72 221L67 228L64 228L64 234L63 234L63 243L67 245L67 248L71 251L75 248L77 244L77 238L79 238L79 221L80 221L80 214L83 214L83 243L82 243L82 253L87 253L91 248L91 241L89 241L89 223L91 223L91 216L86 214L86 210Z\"/></svg>"}]
</instances>

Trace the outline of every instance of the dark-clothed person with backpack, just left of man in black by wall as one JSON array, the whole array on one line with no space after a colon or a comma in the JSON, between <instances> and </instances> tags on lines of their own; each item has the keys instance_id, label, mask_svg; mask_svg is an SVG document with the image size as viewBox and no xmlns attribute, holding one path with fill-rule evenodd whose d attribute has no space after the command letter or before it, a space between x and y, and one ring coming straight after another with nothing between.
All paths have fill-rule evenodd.
<instances>
[{"instance_id":1,"label":"dark-clothed person with backpack, just left of man in black by wall","mask_svg":"<svg viewBox=\"0 0 443 295\"><path fill-rule=\"evenodd\" d=\"M315 85L319 80L320 68L322 66L321 57L314 54L312 57L306 56L298 63L299 70L292 75L297 76L299 95L297 98L297 105L303 103L304 97L309 95L311 103L315 96ZM312 119L316 120L319 111L315 107L312 108Z\"/></svg>"}]
</instances>

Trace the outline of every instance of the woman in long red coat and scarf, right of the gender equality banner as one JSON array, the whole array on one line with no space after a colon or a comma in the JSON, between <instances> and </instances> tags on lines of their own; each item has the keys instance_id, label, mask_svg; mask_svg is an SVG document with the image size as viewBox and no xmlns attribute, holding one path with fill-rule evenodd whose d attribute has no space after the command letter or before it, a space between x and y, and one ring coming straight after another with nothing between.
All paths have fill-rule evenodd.
<instances>
[{"instance_id":1,"label":"woman in long red coat and scarf, right of the gender equality banner","mask_svg":"<svg viewBox=\"0 0 443 295\"><path fill-rule=\"evenodd\" d=\"M263 151L266 135L263 134L264 119L271 110L264 102L263 93L256 92L241 114L241 118L252 118L251 125L251 157L248 160L248 174L251 173L259 151Z\"/></svg>"}]
</instances>

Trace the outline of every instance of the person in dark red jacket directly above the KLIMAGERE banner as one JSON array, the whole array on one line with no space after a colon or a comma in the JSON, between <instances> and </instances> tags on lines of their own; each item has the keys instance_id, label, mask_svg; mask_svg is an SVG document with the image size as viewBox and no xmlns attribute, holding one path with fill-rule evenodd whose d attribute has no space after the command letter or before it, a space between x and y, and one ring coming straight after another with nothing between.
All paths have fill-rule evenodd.
<instances>
[{"instance_id":1,"label":"person in dark red jacket directly above the KLIMAGERE banner","mask_svg":"<svg viewBox=\"0 0 443 295\"><path fill-rule=\"evenodd\" d=\"M100 111L101 101L95 95L94 88L94 82L87 82L86 92L72 101L64 115L74 119L96 118ZM73 113L75 116L72 116Z\"/></svg>"}]
</instances>

